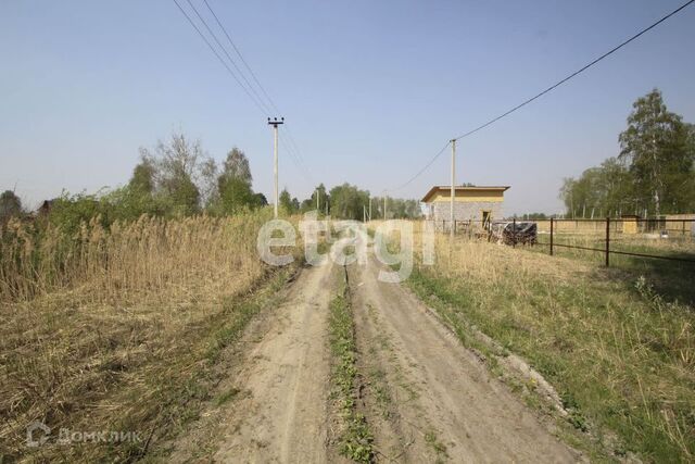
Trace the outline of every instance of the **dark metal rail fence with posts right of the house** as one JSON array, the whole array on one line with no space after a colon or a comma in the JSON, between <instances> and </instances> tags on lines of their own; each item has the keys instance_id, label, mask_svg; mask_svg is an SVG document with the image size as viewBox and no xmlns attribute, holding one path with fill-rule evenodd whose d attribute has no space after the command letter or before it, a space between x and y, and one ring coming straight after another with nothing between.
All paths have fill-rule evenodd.
<instances>
[{"instance_id":1,"label":"dark metal rail fence with posts right of the house","mask_svg":"<svg viewBox=\"0 0 695 464\"><path fill-rule=\"evenodd\" d=\"M515 221L516 222L516 221ZM695 264L695 220L667 220L667 218L610 218L605 220L555 220L548 222L549 230L539 227L539 238L547 234L548 240L535 240L535 244L548 247L549 254L555 254L559 249L576 249L604 254L606 266L610 266L610 256L614 254L655 260L669 260ZM516 226L513 228L516 234ZM585 240L594 238L594 246L582 246L563 242L563 238L582 237ZM628 243L643 248L649 247L645 240L670 240L672 243L681 243L680 250L668 250L669 254L655 254L653 252L627 251L620 249L620 243ZM513 237L513 244L517 243ZM647 243L647 246L644 246ZM654 241L653 241L654 243Z\"/></svg>"}]
</instances>

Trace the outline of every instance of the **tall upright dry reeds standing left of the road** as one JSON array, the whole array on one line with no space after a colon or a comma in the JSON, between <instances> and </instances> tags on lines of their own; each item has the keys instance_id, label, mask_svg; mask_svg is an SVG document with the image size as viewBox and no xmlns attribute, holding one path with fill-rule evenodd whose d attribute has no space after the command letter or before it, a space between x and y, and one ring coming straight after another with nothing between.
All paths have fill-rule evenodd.
<instances>
[{"instance_id":1,"label":"tall upright dry reeds standing left of the road","mask_svg":"<svg viewBox=\"0 0 695 464\"><path fill-rule=\"evenodd\" d=\"M97 217L83 224L72 237L55 227L38 237L20 222L0 229L0 301L86 289L92 302L127 302L143 293L188 289L191 283L243 285L238 279L260 268L257 260L251 260L257 224L248 217L142 216L135 223L115 223L109 231L99 223Z\"/></svg>"}]
</instances>

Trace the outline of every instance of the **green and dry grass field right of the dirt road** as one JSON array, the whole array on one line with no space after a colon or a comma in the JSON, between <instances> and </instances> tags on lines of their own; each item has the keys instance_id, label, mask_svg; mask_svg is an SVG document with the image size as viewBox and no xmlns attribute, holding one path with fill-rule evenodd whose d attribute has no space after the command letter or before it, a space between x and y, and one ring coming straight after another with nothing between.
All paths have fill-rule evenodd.
<instances>
[{"instance_id":1,"label":"green and dry grass field right of the dirt road","mask_svg":"<svg viewBox=\"0 0 695 464\"><path fill-rule=\"evenodd\" d=\"M618 455L695 459L695 308L656 294L649 275L465 239L450 248L442 235L435 249L412 287L438 296L462 330L527 358L576 427Z\"/></svg>"}]
</instances>

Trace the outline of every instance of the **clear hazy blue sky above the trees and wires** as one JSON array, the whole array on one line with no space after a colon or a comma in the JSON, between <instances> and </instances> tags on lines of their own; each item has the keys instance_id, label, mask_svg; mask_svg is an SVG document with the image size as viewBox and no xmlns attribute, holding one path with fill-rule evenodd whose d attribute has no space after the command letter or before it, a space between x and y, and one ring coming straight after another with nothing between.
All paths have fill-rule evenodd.
<instances>
[{"instance_id":1,"label":"clear hazy blue sky above the trees and wires","mask_svg":"<svg viewBox=\"0 0 695 464\"><path fill-rule=\"evenodd\" d=\"M289 123L313 178L374 195L453 136L534 95L683 0L208 0ZM185 0L181 2L186 5ZM204 5L201 0L195 4ZM695 122L695 7L462 140L457 181L510 185L505 212L556 212L563 177L618 153L654 87ZM0 189L31 205L126 183L139 147L181 129L238 146L271 193L265 116L170 0L0 2ZM280 185L314 187L280 153ZM448 183L448 154L395 192Z\"/></svg>"}]
</instances>

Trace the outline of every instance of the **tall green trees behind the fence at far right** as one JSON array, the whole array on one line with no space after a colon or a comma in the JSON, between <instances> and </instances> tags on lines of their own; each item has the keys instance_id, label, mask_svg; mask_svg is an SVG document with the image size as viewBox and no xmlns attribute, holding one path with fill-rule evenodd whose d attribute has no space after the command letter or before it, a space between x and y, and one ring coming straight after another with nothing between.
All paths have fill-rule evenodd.
<instances>
[{"instance_id":1,"label":"tall green trees behind the fence at far right","mask_svg":"<svg viewBox=\"0 0 695 464\"><path fill-rule=\"evenodd\" d=\"M695 126L668 111L658 89L633 103L618 140L617 156L564 179L567 216L695 212Z\"/></svg>"}]
</instances>

